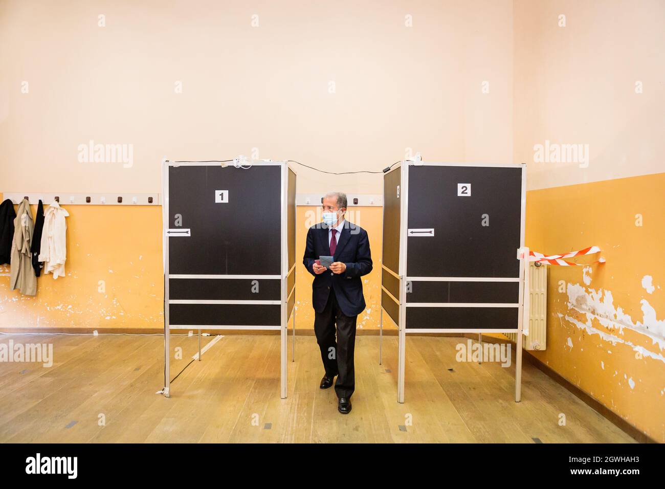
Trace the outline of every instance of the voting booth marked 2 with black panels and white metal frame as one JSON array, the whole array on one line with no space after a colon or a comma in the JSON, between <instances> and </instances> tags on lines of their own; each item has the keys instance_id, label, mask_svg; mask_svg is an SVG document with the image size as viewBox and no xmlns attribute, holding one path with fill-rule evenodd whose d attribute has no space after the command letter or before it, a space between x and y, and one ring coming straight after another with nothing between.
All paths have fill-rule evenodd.
<instances>
[{"instance_id":1,"label":"voting booth marked 2 with black panels and white metal frame","mask_svg":"<svg viewBox=\"0 0 665 489\"><path fill-rule=\"evenodd\" d=\"M381 305L399 330L398 402L406 335L418 333L517 333L519 401L525 204L523 165L416 160L384 174Z\"/></svg>"}]
</instances>

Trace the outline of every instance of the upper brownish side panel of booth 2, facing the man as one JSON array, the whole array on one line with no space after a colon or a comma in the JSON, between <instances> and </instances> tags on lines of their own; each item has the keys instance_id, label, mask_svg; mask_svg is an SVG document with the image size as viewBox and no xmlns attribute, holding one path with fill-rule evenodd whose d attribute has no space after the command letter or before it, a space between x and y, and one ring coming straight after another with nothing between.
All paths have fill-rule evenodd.
<instances>
[{"instance_id":1,"label":"upper brownish side panel of booth 2, facing the man","mask_svg":"<svg viewBox=\"0 0 665 489\"><path fill-rule=\"evenodd\" d=\"M399 275L400 273L400 201L397 187L400 186L400 172L397 168L383 178L383 264ZM400 188L401 190L401 188ZM401 193L400 193L401 196Z\"/></svg>"}]
</instances>

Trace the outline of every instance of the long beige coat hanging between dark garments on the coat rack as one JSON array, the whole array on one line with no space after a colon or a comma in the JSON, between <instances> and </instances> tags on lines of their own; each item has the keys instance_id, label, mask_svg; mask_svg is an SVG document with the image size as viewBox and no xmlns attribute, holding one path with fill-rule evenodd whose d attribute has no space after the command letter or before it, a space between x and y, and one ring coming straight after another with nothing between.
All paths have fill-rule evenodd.
<instances>
[{"instance_id":1,"label":"long beige coat hanging between dark garments on the coat rack","mask_svg":"<svg viewBox=\"0 0 665 489\"><path fill-rule=\"evenodd\" d=\"M33 213L27 199L19 204L14 220L14 239L11 242L11 289L25 295L37 293L37 277L33 268L30 245L33 240Z\"/></svg>"}]
</instances>

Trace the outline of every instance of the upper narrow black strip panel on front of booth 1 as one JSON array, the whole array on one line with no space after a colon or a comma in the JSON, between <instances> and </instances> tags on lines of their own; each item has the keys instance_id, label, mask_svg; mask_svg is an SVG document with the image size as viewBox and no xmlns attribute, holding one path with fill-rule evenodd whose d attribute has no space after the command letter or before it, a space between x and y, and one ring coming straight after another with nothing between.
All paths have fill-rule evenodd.
<instances>
[{"instance_id":1,"label":"upper narrow black strip panel on front of booth 1","mask_svg":"<svg viewBox=\"0 0 665 489\"><path fill-rule=\"evenodd\" d=\"M279 301L279 279L169 279L170 299Z\"/></svg>"}]
</instances>

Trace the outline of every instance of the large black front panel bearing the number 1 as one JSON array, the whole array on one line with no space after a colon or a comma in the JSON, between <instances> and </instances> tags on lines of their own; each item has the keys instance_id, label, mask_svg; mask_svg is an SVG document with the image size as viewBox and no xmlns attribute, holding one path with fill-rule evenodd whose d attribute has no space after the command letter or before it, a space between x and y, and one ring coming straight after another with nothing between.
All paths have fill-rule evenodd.
<instances>
[{"instance_id":1,"label":"large black front panel bearing the number 1","mask_svg":"<svg viewBox=\"0 0 665 489\"><path fill-rule=\"evenodd\" d=\"M279 165L170 166L170 228L176 214L192 236L169 238L170 274L280 275Z\"/></svg>"}]
</instances>

